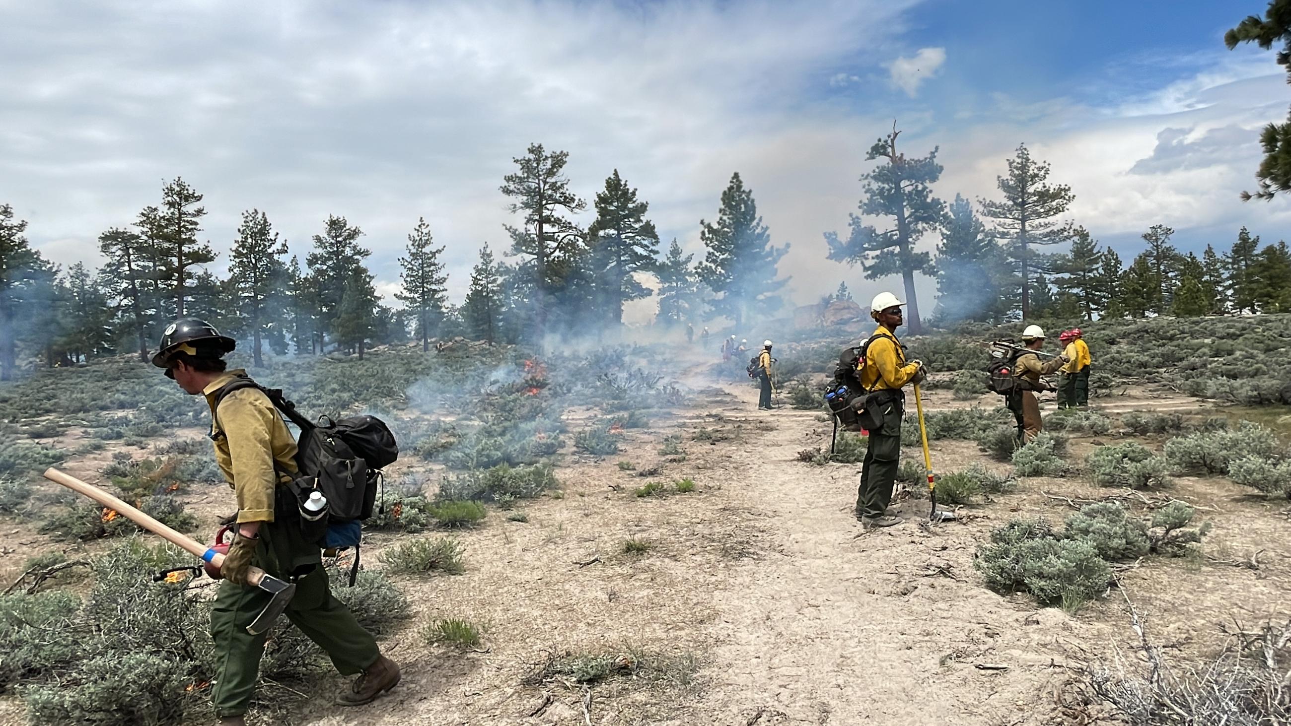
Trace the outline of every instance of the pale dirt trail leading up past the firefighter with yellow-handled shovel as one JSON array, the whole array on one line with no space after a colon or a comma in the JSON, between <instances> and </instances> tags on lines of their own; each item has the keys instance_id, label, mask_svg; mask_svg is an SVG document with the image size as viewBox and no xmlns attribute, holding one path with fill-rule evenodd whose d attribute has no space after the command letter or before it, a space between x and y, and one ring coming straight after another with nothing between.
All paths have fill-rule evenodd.
<instances>
[{"instance_id":1,"label":"pale dirt trail leading up past the firefighter with yellow-handled shovel","mask_svg":"<svg viewBox=\"0 0 1291 726\"><path fill-rule=\"evenodd\" d=\"M747 387L728 391L754 407ZM778 431L733 454L736 496L766 517L777 553L714 593L720 665L705 722L1039 722L1052 700L1038 696L1066 676L1051 667L1065 659L1052 642L1096 628L964 582L979 527L920 526L927 500L905 505L905 524L862 534L851 513L859 466L795 459L828 424L815 411L758 415Z\"/></svg>"}]
</instances>

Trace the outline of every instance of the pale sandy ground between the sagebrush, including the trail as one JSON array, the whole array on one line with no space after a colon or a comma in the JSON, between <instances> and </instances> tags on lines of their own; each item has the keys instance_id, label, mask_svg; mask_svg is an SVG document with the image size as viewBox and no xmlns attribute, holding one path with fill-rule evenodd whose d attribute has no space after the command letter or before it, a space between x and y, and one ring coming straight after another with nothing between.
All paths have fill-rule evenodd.
<instances>
[{"instance_id":1,"label":"pale sandy ground between the sagebrush, including the trail","mask_svg":"<svg viewBox=\"0 0 1291 726\"><path fill-rule=\"evenodd\" d=\"M1028 596L985 589L972 558L990 529L1010 517L1042 513L1057 521L1072 511L1061 496L1108 490L1078 477L1028 478L1016 494L964 509L958 522L927 526L928 502L910 499L899 504L906 522L862 531L852 517L860 466L797 460L802 449L829 445L829 423L816 411L757 411L755 400L749 386L707 388L695 406L656 418L648 431L626 432L617 455L567 455L558 469L563 496L518 507L527 524L491 509L484 526L454 535L466 549L463 575L400 579L416 616L385 642L404 667L389 696L351 711L302 703L289 722L1075 722L1062 704L1072 701L1077 669L1131 642L1121 592L1069 616L1037 607ZM941 391L927 401L928 410L964 404ZM1157 392L1095 406L1193 411L1199 404ZM913 415L908 426L915 426ZM701 427L726 438L697 441ZM660 456L670 433L683 435L684 460ZM1073 440L1072 459L1093 445ZM110 454L99 453L68 469L102 480L96 472L107 460ZM933 442L939 471L986 460L971 442ZM636 471L621 471L617 462ZM656 464L662 473L636 476ZM634 494L648 481L682 477L693 478L697 491ZM213 486L186 499L213 517L221 494ZM1215 530L1205 545L1210 558L1152 558L1122 574L1150 632L1179 652L1206 652L1224 622L1286 616L1286 503L1251 499L1217 478L1181 478L1170 494L1206 507ZM27 526L13 534L9 562L58 545ZM398 536L439 533L377 534L365 562L376 566L377 552ZM649 549L625 554L629 538ZM1255 552L1257 569L1234 566ZM485 646L463 654L425 643L418 632L438 618L483 624ZM612 680L586 690L559 678L522 685L549 654L633 649L658 663L657 680ZM328 695L343 685L327 677L314 690ZM294 696L266 689L262 698ZM21 722L12 701L0 707L0 718Z\"/></svg>"}]
</instances>

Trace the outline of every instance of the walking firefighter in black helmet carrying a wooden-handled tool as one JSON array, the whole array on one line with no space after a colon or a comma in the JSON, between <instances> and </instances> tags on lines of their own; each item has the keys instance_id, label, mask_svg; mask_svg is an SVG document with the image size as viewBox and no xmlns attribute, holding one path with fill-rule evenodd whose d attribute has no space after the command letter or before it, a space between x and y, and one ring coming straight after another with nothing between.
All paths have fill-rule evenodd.
<instances>
[{"instance_id":1,"label":"walking firefighter in black helmet carrying a wooden-handled tool","mask_svg":"<svg viewBox=\"0 0 1291 726\"><path fill-rule=\"evenodd\" d=\"M306 542L296 522L275 517L279 485L297 472L296 441L259 388L239 388L219 397L226 384L247 375L240 369L226 370L223 356L235 347L234 339L213 325L187 317L167 326L152 356L152 365L165 369L185 392L205 396L216 462L238 500L230 522L234 540L219 571L225 582L210 611L216 717L223 726L244 726L259 677L266 636L248 633L247 625L263 609L267 594L247 587L252 565L296 583L287 618L328 654L337 671L359 674L336 701L369 703L399 682L399 665L381 654L372 634L332 594L318 543Z\"/></svg>"}]
</instances>

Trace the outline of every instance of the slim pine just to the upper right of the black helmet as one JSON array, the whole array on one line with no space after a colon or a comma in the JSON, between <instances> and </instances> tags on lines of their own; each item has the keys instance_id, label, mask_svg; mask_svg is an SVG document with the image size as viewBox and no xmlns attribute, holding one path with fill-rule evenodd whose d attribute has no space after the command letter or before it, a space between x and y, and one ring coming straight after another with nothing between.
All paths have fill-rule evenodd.
<instances>
[{"instance_id":1,"label":"slim pine just to the upper right of the black helmet","mask_svg":"<svg viewBox=\"0 0 1291 726\"><path fill-rule=\"evenodd\" d=\"M234 294L238 325L234 330L252 337L252 361L256 368L265 365L263 340L271 339L274 348L284 351L287 267L281 257L287 254L287 241L269 223L269 215L258 209L243 211L238 239L229 253L229 285Z\"/></svg>"}]
</instances>

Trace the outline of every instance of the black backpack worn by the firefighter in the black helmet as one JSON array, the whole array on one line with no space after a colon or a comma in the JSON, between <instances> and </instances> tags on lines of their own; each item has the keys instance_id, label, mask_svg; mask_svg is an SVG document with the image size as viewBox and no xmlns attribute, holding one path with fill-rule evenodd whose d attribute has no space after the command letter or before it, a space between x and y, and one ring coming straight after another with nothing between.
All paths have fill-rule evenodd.
<instances>
[{"instance_id":1,"label":"black backpack worn by the firefighter in the black helmet","mask_svg":"<svg viewBox=\"0 0 1291 726\"><path fill-rule=\"evenodd\" d=\"M275 496L275 518L281 515L288 521L300 520L305 539L318 542L319 547L354 547L352 585L359 570L360 522L372 517L377 484L385 481L381 469L399 458L394 433L383 420L369 415L338 420L319 417L319 423L314 423L283 397L281 389L265 388L247 377L235 378L216 391L216 409L226 396L243 388L263 392L301 429L296 445L300 473L285 485L293 496ZM301 516L301 505L315 490L327 498L327 516L306 520Z\"/></svg>"}]
</instances>

